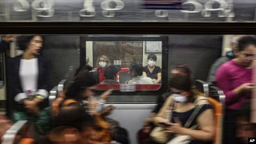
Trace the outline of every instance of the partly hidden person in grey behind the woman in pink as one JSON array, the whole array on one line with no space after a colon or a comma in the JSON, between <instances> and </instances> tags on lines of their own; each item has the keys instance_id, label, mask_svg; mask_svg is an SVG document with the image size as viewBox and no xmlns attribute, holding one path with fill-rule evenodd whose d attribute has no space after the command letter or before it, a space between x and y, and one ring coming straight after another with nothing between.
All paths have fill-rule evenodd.
<instances>
[{"instance_id":1,"label":"partly hidden person in grey behind the woman in pink","mask_svg":"<svg viewBox=\"0 0 256 144\"><path fill-rule=\"evenodd\" d=\"M214 61L214 63L211 65L211 68L209 70L209 74L206 80L206 82L209 85L216 85L215 73L217 68L219 68L219 66L221 66L223 63L226 63L227 61L234 59L237 56L237 51L238 51L237 41L239 37L241 37L241 35L232 35L232 40L230 42L230 46L232 50L226 52L225 56L220 57L219 59Z\"/></svg>"}]
</instances>

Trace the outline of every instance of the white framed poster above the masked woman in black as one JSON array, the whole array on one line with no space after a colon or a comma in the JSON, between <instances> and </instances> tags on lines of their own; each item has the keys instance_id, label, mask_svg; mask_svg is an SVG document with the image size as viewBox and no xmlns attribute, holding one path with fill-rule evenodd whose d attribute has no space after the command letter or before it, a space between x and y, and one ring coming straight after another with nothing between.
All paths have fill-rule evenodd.
<instances>
[{"instance_id":1,"label":"white framed poster above the masked woman in black","mask_svg":"<svg viewBox=\"0 0 256 144\"><path fill-rule=\"evenodd\" d=\"M145 54L161 54L162 42L161 41L146 41Z\"/></svg>"}]
</instances>

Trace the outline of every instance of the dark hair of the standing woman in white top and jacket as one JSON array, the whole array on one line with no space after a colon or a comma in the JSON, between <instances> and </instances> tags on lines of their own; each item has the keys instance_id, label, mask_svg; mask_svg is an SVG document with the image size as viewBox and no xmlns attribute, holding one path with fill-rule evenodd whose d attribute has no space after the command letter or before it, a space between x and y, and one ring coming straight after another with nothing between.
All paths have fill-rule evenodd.
<instances>
[{"instance_id":1,"label":"dark hair of the standing woman in white top and jacket","mask_svg":"<svg viewBox=\"0 0 256 144\"><path fill-rule=\"evenodd\" d=\"M28 48L28 45L30 44L30 41L33 39L33 37L35 36L40 36L41 35L21 35L18 37L17 43L19 46L20 50L26 50L26 48ZM43 37L42 37L43 39Z\"/></svg>"}]
</instances>

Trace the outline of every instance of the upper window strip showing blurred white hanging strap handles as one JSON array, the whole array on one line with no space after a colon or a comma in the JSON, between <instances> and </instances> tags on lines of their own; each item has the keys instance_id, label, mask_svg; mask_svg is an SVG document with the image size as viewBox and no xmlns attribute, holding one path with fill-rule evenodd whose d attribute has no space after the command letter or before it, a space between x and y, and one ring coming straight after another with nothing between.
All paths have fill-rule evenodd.
<instances>
[{"instance_id":1,"label":"upper window strip showing blurred white hanging strap handles","mask_svg":"<svg viewBox=\"0 0 256 144\"><path fill-rule=\"evenodd\" d=\"M2 0L0 21L253 22L255 5L255 0Z\"/></svg>"}]
</instances>

